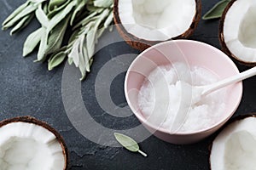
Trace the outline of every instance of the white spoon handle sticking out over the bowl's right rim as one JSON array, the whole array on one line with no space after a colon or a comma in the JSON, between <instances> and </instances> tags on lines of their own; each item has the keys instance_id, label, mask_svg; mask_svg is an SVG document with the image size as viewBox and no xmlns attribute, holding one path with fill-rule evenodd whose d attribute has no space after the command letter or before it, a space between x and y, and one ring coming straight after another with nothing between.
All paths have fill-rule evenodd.
<instances>
[{"instance_id":1,"label":"white spoon handle sticking out over the bowl's right rim","mask_svg":"<svg viewBox=\"0 0 256 170\"><path fill-rule=\"evenodd\" d=\"M256 66L253 68L243 71L236 76L225 78L224 80L221 80L219 82L215 82L211 85L208 85L205 90L202 92L202 95L210 94L212 91L217 90L218 88L224 88L227 85L230 85L235 82L240 82L244 79L247 79L248 77L253 77L256 75Z\"/></svg>"}]
</instances>

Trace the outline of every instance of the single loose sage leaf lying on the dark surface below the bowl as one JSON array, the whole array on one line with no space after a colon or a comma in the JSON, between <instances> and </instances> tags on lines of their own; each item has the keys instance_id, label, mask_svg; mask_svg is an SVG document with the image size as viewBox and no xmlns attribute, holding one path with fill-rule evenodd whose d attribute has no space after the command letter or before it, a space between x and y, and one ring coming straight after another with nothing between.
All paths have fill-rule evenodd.
<instances>
[{"instance_id":1,"label":"single loose sage leaf lying on the dark surface below the bowl","mask_svg":"<svg viewBox=\"0 0 256 170\"><path fill-rule=\"evenodd\" d=\"M139 152L143 156L147 156L142 150L139 149L139 145L134 139L131 139L129 136L126 136L121 133L114 133L115 139L124 146L127 150L133 151L133 152Z\"/></svg>"}]
</instances>

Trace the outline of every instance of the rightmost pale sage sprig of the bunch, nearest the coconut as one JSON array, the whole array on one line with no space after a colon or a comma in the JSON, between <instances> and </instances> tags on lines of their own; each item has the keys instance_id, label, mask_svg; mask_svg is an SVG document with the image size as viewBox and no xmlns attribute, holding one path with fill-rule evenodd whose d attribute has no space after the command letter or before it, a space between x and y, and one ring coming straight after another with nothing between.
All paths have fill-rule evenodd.
<instances>
[{"instance_id":1,"label":"rightmost pale sage sprig of the bunch, nearest the coconut","mask_svg":"<svg viewBox=\"0 0 256 170\"><path fill-rule=\"evenodd\" d=\"M73 35L75 40L72 40L73 46L70 48L68 59L70 64L74 63L76 67L79 67L82 74L81 80L86 76L86 72L90 72L97 39L101 37L102 31L111 23L108 22L108 18L113 20L113 11L109 8L96 8L95 11L90 12L93 16L89 15L88 18L75 26L79 30L75 31Z\"/></svg>"}]
</instances>

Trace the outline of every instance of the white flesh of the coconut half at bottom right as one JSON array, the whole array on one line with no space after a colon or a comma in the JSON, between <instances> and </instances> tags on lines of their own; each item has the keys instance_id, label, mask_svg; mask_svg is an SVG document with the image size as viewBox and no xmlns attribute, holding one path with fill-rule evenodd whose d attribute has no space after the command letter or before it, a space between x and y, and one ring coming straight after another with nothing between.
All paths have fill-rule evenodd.
<instances>
[{"instance_id":1,"label":"white flesh of the coconut half at bottom right","mask_svg":"<svg viewBox=\"0 0 256 170\"><path fill-rule=\"evenodd\" d=\"M256 169L256 118L231 123L212 143L212 170Z\"/></svg>"}]
</instances>

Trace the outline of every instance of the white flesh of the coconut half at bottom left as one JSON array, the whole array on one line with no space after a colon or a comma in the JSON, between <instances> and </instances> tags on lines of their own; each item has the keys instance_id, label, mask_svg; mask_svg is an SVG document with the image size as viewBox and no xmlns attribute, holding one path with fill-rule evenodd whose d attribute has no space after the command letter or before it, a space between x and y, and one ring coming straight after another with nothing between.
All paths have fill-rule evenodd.
<instances>
[{"instance_id":1,"label":"white flesh of the coconut half at bottom left","mask_svg":"<svg viewBox=\"0 0 256 170\"><path fill-rule=\"evenodd\" d=\"M63 170L65 158L55 135L44 127L12 122L0 128L1 170Z\"/></svg>"}]
</instances>

